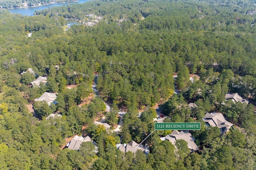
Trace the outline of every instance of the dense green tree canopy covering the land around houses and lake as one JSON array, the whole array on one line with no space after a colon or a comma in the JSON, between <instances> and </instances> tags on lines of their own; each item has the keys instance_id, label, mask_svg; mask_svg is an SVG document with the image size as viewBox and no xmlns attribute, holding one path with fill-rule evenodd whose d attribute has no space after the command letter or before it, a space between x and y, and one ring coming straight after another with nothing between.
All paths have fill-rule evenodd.
<instances>
[{"instance_id":1,"label":"dense green tree canopy covering the land around houses and lake","mask_svg":"<svg viewBox=\"0 0 256 170\"><path fill-rule=\"evenodd\" d=\"M4 8L16 5L0 0L0 6L7 2ZM1 9L0 169L255 169L255 4L94 0L35 16ZM64 29L65 18L87 23L95 16L100 19L94 26ZM24 73L28 68L33 73ZM39 76L47 83L31 87ZM34 101L45 92L57 94L56 104ZM250 103L223 105L229 92ZM104 102L112 104L108 113ZM140 143L154 130L156 103L170 117L164 122L201 122L200 131L191 131L198 151L190 152L184 140L175 147L161 141L171 131L159 130L147 139L147 156L124 153L116 150L120 136L94 125L104 114L116 126L122 109L122 143ZM223 113L235 128L220 135L202 120L206 111ZM46 120L51 113L62 117ZM97 152L87 142L78 151L62 149L75 134L89 135Z\"/></svg>"}]
</instances>

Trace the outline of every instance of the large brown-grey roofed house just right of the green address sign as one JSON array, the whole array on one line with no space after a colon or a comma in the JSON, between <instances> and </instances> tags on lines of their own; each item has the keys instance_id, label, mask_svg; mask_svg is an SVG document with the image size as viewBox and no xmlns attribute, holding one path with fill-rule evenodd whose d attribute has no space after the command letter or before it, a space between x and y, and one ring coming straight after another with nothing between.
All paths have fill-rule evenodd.
<instances>
[{"instance_id":1,"label":"large brown-grey roofed house just right of the green address sign","mask_svg":"<svg viewBox=\"0 0 256 170\"><path fill-rule=\"evenodd\" d=\"M232 123L226 121L221 113L206 113L203 120L206 125L220 128L221 134L226 134L230 130L230 127L233 126Z\"/></svg>"}]
</instances>

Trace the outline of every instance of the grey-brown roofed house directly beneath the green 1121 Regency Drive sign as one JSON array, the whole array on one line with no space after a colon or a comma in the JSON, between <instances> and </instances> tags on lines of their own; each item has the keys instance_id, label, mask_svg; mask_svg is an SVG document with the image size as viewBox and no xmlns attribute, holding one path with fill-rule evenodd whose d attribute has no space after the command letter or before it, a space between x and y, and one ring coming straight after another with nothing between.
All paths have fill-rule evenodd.
<instances>
[{"instance_id":1,"label":"grey-brown roofed house directly beneath the green 1121 Regency Drive sign","mask_svg":"<svg viewBox=\"0 0 256 170\"><path fill-rule=\"evenodd\" d=\"M189 132L173 130L170 135L166 135L165 137L160 138L161 140L168 140L172 142L172 144L175 146L175 142L178 139L183 139L186 142L188 142L188 148L191 152L198 150L198 146L194 142L194 138ZM175 146L176 147L176 146Z\"/></svg>"}]
</instances>

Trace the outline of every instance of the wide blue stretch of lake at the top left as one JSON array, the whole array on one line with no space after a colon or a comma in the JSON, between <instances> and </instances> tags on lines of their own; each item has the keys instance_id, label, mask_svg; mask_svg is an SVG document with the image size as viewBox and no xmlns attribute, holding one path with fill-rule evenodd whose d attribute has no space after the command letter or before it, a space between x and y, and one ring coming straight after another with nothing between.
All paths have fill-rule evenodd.
<instances>
[{"instance_id":1,"label":"wide blue stretch of lake at the top left","mask_svg":"<svg viewBox=\"0 0 256 170\"><path fill-rule=\"evenodd\" d=\"M45 8L50 8L50 7L54 7L54 6L66 6L67 4L70 4L70 5L71 4L83 4L84 2L88 2L88 1L90 1L90 0L79 0L78 2L49 4L49 5L42 5L42 6L35 6L35 7L13 8L13 9L9 9L9 11L12 13L33 16L34 15L33 13L36 10L44 10Z\"/></svg>"}]
</instances>

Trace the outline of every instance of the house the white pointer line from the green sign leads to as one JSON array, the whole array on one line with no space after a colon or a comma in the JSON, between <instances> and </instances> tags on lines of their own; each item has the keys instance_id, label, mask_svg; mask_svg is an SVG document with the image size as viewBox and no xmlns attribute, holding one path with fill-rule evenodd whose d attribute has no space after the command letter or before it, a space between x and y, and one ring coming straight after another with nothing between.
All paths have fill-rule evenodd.
<instances>
[{"instance_id":1,"label":"house the white pointer line from the green sign leads to","mask_svg":"<svg viewBox=\"0 0 256 170\"><path fill-rule=\"evenodd\" d=\"M122 152L133 152L135 153L137 150L142 150L145 154L149 153L149 150L147 147L143 148L141 146L139 146L139 144L137 144L136 142L134 142L133 140L131 142L129 142L128 144L116 144L117 149L121 150Z\"/></svg>"}]
</instances>

